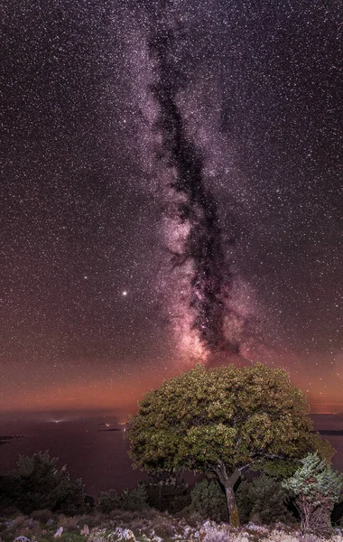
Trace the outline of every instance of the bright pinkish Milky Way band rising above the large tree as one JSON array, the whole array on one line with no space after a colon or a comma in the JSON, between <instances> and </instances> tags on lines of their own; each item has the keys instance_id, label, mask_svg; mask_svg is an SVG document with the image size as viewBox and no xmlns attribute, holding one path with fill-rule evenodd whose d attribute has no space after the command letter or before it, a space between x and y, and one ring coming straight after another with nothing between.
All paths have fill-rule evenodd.
<instances>
[{"instance_id":1,"label":"bright pinkish Milky Way band rising above the large tree","mask_svg":"<svg viewBox=\"0 0 343 542\"><path fill-rule=\"evenodd\" d=\"M183 36L190 33L181 7L181 3L170 2L156 5L153 15L148 10L144 69L150 73L145 85L155 106L150 103L147 114L151 117L149 136L155 162L159 162L155 169L164 181L160 182L165 204L162 240L171 254L172 271L168 276L167 268L162 274L161 290L179 353L191 363L213 360L220 352L237 354L250 340L257 344L257 327L253 330L252 322L258 311L252 309L251 289L243 300L244 289L237 288L241 277L234 276L231 261L236 239L229 231L224 239L218 201L206 171L211 149L201 148L205 138L194 135L196 123L188 115L187 109L196 103L189 72L180 58ZM144 108L146 104L141 104L140 110ZM216 136L220 138L219 130ZM231 185L228 197L234 201L234 180ZM243 209L241 206L241 212Z\"/></svg>"}]
</instances>

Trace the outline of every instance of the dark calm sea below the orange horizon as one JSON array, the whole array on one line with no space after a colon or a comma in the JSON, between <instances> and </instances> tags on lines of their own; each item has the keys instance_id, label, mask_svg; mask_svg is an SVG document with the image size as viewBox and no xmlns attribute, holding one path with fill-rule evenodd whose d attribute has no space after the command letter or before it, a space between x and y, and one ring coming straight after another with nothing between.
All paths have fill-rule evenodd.
<instances>
[{"instance_id":1,"label":"dark calm sea below the orange horizon","mask_svg":"<svg viewBox=\"0 0 343 542\"><path fill-rule=\"evenodd\" d=\"M313 416L315 429L343 429L343 416ZM68 465L72 479L82 478L89 495L101 491L133 488L144 480L134 471L127 455L128 441L123 431L106 432L98 420L40 422L0 422L0 435L24 435L0 446L0 472L14 468L18 455L49 450ZM333 463L343 472L343 436L325 435L337 453Z\"/></svg>"}]
</instances>

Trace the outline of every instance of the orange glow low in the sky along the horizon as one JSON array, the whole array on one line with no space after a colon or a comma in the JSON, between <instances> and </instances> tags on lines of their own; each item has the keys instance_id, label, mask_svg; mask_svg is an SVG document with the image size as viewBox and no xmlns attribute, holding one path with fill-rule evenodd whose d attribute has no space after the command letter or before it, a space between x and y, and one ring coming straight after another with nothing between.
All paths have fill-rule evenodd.
<instances>
[{"instance_id":1,"label":"orange glow low in the sky along the horizon","mask_svg":"<svg viewBox=\"0 0 343 542\"><path fill-rule=\"evenodd\" d=\"M195 365L195 362L193 363ZM168 365L167 365L168 367ZM190 367L179 364L170 364L168 369L133 369L131 374L125 373L121 377L109 375L87 376L83 380L69 378L68 381L57 384L51 382L23 393L14 394L8 391L0 397L0 410L3 413L15 412L46 412L51 410L97 410L134 412L137 402L144 393L158 388L162 381L172 378ZM320 386L312 386L307 392L306 385L301 378L292 375L292 383L299 386L308 398L312 414L335 414L343 412L341 393L338 388L327 390L324 396L320 393ZM298 381L297 381L298 380Z\"/></svg>"}]
</instances>

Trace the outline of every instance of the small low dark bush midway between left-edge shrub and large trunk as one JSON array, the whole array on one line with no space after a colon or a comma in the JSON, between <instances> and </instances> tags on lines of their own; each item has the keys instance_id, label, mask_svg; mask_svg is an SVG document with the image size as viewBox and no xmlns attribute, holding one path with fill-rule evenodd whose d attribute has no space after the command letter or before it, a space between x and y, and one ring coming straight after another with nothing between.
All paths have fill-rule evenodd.
<instances>
[{"instance_id":1,"label":"small low dark bush midway between left-edge shrub and large trunk","mask_svg":"<svg viewBox=\"0 0 343 542\"><path fill-rule=\"evenodd\" d=\"M98 511L108 514L114 509L142 510L147 508L147 493L143 484L138 484L134 490L105 491L97 500Z\"/></svg>"}]
</instances>

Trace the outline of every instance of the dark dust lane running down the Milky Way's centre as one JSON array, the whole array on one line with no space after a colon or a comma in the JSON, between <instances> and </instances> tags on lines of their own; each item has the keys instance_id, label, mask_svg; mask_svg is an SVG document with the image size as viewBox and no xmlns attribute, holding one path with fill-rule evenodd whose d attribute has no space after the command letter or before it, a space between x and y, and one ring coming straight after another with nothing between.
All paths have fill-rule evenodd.
<instances>
[{"instance_id":1,"label":"dark dust lane running down the Milky Way's centre","mask_svg":"<svg viewBox=\"0 0 343 542\"><path fill-rule=\"evenodd\" d=\"M165 167L174 170L170 184L175 218L180 220L181 228L187 225L183 247L172 254L172 265L182 267L190 263L190 309L194 311L190 325L199 334L204 349L209 353L238 352L239 344L229 341L225 334L225 322L230 318L226 302L231 274L222 248L217 202L205 188L201 152L187 137L177 106L184 84L171 60L177 39L170 28L161 25L149 42L158 78L152 89L160 112L156 126L162 132Z\"/></svg>"}]
</instances>

